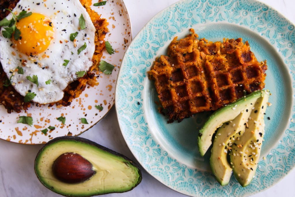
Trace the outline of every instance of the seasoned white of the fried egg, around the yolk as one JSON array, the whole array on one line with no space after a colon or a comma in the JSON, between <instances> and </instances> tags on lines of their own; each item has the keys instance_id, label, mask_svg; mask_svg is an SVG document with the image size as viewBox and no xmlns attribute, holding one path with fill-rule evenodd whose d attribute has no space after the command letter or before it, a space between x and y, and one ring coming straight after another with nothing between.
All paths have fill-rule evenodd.
<instances>
[{"instance_id":1,"label":"seasoned white of the fried egg, around the yolk","mask_svg":"<svg viewBox=\"0 0 295 197\"><path fill-rule=\"evenodd\" d=\"M78 79L76 72L88 71L92 66L92 56L95 50L95 27L79 0L47 0L45 2L43 0L34 2L20 0L12 12L19 13L22 10L40 13L50 18L55 29L54 39L51 40L45 52L30 57L12 47L13 38L4 38L2 27L0 32L0 61L2 67L7 77L10 78L14 89L21 95L25 96L28 92L34 92L36 94L32 100L34 102L40 104L57 102L63 98L63 90L67 85ZM81 30L79 25L81 14L83 14L86 24L84 30ZM6 18L11 19L12 14L9 14ZM78 32L76 47L70 41L70 34L74 32ZM84 42L87 47L78 54L78 48ZM44 53L49 57L42 58ZM22 60L27 61L25 66L22 65ZM64 60L69 60L67 66L63 66ZM24 74L12 72L18 66L24 69ZM33 75L38 77L38 87L26 79L27 76ZM45 83L48 80L51 80L50 84Z\"/></svg>"}]
</instances>

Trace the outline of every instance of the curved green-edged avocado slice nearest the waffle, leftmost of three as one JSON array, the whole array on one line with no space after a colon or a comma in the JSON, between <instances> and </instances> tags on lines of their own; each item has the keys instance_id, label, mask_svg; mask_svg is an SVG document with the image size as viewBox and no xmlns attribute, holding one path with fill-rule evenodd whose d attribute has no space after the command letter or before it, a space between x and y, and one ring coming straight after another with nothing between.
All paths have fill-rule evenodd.
<instances>
[{"instance_id":1,"label":"curved green-edged avocado slice nearest the waffle, leftmost of three","mask_svg":"<svg viewBox=\"0 0 295 197\"><path fill-rule=\"evenodd\" d=\"M224 106L212 113L204 126L199 131L198 146L199 152L203 157L212 144L212 136L217 128L223 123L231 121L237 117L248 105L255 103L261 96L262 91L254 91L231 104Z\"/></svg>"}]
</instances>

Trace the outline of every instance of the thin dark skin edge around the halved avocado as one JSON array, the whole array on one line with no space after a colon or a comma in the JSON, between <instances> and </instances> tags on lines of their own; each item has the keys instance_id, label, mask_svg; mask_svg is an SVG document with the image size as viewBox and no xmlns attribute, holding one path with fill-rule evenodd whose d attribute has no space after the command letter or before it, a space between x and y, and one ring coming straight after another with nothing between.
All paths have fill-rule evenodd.
<instances>
[{"instance_id":1,"label":"thin dark skin edge around the halved avocado","mask_svg":"<svg viewBox=\"0 0 295 197\"><path fill-rule=\"evenodd\" d=\"M133 187L125 190L125 191L116 191L116 192L106 192L106 193L92 193L90 195L81 195L81 194L78 194L78 195L75 195L75 194L66 194L66 193L63 193L63 192L58 192L57 190L55 190L55 188L53 186L50 186L50 185L47 185L44 181L42 181L42 177L39 175L39 172L38 172L38 169L37 169L37 166L38 166L38 162L40 160L40 155L41 153L43 152L43 150L49 146L50 144L53 144L53 143L57 143L59 141L76 141L76 142L80 142L80 143L84 143L84 144L88 144L89 146L94 146L95 148L97 149L101 149L103 151L106 151L110 154L113 154L115 156L118 156L118 157L121 157L122 159L126 160L126 165L132 165L134 166L136 169L137 169L137 174L138 174L138 180L137 182L133 185ZM83 156L83 155L82 155ZM56 137L50 141L48 141L40 150L39 152L37 153L37 156L35 158L35 162L34 162L34 170L35 170L35 174L37 175L37 178L39 179L39 181L48 189L50 189L51 191L55 192L55 193L58 193L58 194L61 194L63 196L83 196L83 197L88 197L88 196L96 196L96 195L103 195L103 194L108 194L108 193L123 193L123 192L127 192L127 191L131 191L133 188L135 188L142 180L142 173L141 173L141 170L139 168L139 166L133 162L131 159L129 159L128 157L126 157L125 155L123 154L120 154L118 152L115 152L113 151L112 149L109 149L105 146L102 146L100 144L97 144L96 142L94 141L91 141L89 139L85 139L85 138L82 138L82 137L78 137L78 136L61 136L61 137ZM69 184L71 185L71 184Z\"/></svg>"}]
</instances>

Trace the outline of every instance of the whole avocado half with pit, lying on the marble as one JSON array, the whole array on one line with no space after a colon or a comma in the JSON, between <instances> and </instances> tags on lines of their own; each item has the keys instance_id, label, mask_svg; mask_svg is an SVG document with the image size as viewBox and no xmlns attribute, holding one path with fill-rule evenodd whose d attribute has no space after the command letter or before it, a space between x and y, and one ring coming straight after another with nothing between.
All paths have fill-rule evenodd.
<instances>
[{"instance_id":1,"label":"whole avocado half with pit, lying on the marble","mask_svg":"<svg viewBox=\"0 0 295 197\"><path fill-rule=\"evenodd\" d=\"M132 160L91 140L62 136L48 141L35 159L40 182L63 196L94 196L132 190L142 180Z\"/></svg>"}]
</instances>

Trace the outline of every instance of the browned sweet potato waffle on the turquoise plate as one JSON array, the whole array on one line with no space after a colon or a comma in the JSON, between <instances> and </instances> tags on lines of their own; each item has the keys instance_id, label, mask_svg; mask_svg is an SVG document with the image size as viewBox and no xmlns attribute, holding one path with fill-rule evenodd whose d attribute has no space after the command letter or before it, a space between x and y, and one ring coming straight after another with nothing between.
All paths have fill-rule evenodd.
<instances>
[{"instance_id":1,"label":"browned sweet potato waffle on the turquoise plate","mask_svg":"<svg viewBox=\"0 0 295 197\"><path fill-rule=\"evenodd\" d=\"M258 62L242 38L210 42L191 29L173 39L167 56L161 55L148 71L169 121L217 110L264 88L266 60ZM159 109L162 111L162 109Z\"/></svg>"}]
</instances>

